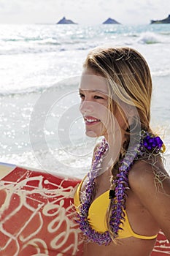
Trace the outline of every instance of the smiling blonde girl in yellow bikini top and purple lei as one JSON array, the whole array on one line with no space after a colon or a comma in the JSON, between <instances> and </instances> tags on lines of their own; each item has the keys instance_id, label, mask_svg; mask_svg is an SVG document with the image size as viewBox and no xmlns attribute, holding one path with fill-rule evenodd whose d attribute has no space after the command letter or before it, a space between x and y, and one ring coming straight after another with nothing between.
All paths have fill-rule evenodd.
<instances>
[{"instance_id":1,"label":"smiling blonde girl in yellow bikini top and purple lei","mask_svg":"<svg viewBox=\"0 0 170 256\"><path fill-rule=\"evenodd\" d=\"M170 240L165 146L150 128L152 80L131 48L96 48L85 60L80 111L86 135L103 136L74 196L84 256L149 256L159 230Z\"/></svg>"}]
</instances>

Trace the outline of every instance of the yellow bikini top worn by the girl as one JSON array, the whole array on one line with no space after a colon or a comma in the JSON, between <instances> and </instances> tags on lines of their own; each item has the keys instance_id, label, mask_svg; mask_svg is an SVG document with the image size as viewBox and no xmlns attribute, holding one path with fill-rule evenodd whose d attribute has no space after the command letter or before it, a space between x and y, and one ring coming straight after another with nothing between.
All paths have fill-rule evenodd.
<instances>
[{"instance_id":1,"label":"yellow bikini top worn by the girl","mask_svg":"<svg viewBox=\"0 0 170 256\"><path fill-rule=\"evenodd\" d=\"M82 180L83 182L84 180ZM74 206L77 208L80 206L80 192L82 187L82 182L79 184L79 187L77 188L77 191L74 195ZM106 221L106 213L107 208L109 207L109 190L107 192L104 192L102 195L97 197L95 200L93 200L93 203L90 205L89 211L88 211L88 222L90 226L96 230L97 232L104 233L107 231L107 221ZM134 233L134 231L131 229L131 225L128 221L128 215L125 212L125 219L123 224L120 225L123 230L119 230L118 238L129 238L129 237L135 237L135 238L141 238L141 239L154 239L157 237L158 234L155 236L142 236Z\"/></svg>"}]
</instances>

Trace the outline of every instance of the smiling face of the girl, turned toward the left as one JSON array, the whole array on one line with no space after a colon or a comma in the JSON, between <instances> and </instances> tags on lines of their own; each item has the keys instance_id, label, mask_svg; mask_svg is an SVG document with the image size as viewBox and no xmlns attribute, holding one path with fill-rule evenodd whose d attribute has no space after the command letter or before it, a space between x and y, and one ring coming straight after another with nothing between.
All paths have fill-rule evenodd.
<instances>
[{"instance_id":1,"label":"smiling face of the girl, turned toward the left","mask_svg":"<svg viewBox=\"0 0 170 256\"><path fill-rule=\"evenodd\" d=\"M80 82L80 112L86 135L107 137L108 88L106 79L91 69L84 69Z\"/></svg>"}]
</instances>

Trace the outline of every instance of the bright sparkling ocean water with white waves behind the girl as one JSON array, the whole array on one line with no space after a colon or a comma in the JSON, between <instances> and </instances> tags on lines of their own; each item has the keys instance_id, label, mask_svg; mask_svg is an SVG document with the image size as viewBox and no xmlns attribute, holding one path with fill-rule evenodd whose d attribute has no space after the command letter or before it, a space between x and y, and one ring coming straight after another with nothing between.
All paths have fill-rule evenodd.
<instances>
[{"instance_id":1,"label":"bright sparkling ocean water with white waves behind the girl","mask_svg":"<svg viewBox=\"0 0 170 256\"><path fill-rule=\"evenodd\" d=\"M77 91L96 46L129 46L150 66L152 128L170 170L170 25L0 25L0 162L82 176L96 139L85 136Z\"/></svg>"}]
</instances>

